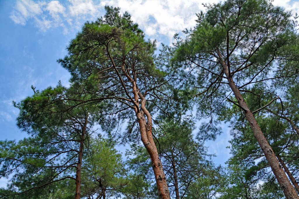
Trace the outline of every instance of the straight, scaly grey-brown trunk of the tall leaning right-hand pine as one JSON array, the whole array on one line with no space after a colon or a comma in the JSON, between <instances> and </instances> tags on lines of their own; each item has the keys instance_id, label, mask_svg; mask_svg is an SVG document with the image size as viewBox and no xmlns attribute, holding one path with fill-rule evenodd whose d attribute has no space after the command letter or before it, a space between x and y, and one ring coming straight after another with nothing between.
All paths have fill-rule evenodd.
<instances>
[{"instance_id":1,"label":"straight, scaly grey-brown trunk of the tall leaning right-hand pine","mask_svg":"<svg viewBox=\"0 0 299 199\"><path fill-rule=\"evenodd\" d=\"M243 113L247 119L247 121L250 124L250 127L254 133L254 137L257 139L257 142L259 143L263 153L266 156L266 159L271 166L271 169L281 187L283 190L284 195L287 199L299 199L298 194L296 193L294 187L290 183L289 179L286 177L286 174L284 173L282 167L280 166L280 163L278 162L276 155L274 154L270 144L266 140L262 130L260 129L259 124L257 123L256 119L254 118L253 113L248 108L245 100L243 99L241 92L239 91L239 88L237 88L236 84L233 81L233 78L231 77L230 73L228 72L228 67L225 64L225 62L221 58L221 54L218 51L219 55L219 61L220 64L224 70L225 76L228 79L228 85L231 88L231 90L234 92L234 95L238 101L239 106L242 108Z\"/></svg>"}]
</instances>

